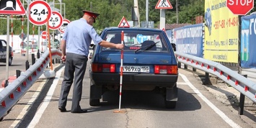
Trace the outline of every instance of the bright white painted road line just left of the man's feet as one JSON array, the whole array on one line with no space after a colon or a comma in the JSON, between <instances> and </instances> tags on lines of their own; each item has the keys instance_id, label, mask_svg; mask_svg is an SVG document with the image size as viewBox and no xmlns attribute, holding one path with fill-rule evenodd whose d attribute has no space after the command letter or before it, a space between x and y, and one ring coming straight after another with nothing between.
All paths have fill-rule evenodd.
<instances>
[{"instance_id":1,"label":"bright white painted road line just left of the man's feet","mask_svg":"<svg viewBox=\"0 0 256 128\"><path fill-rule=\"evenodd\" d=\"M35 116L33 117L32 121L30 122L30 124L28 125L27 128L30 127L35 127L36 124L39 122L41 116L43 115L43 112L45 111L45 109L47 108L48 104L50 103L50 99L53 96L53 93L55 91L55 88L58 84L59 78L61 76L61 72L65 67L63 66L60 70L58 70L58 72L56 73L56 77L53 80L53 84L50 86L50 89L47 93L47 95L45 96L45 99L43 100L43 104L41 104L40 108L38 109L38 111L35 113Z\"/></svg>"}]
</instances>

